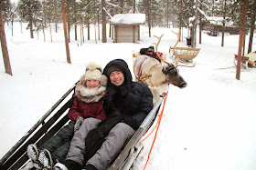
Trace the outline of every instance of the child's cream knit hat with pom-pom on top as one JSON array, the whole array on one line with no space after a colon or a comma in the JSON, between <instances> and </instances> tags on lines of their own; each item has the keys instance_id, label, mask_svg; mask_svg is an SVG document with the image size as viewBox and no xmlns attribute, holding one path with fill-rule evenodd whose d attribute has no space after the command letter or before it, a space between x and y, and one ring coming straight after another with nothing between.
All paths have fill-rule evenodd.
<instances>
[{"instance_id":1,"label":"child's cream knit hat with pom-pom on top","mask_svg":"<svg viewBox=\"0 0 256 170\"><path fill-rule=\"evenodd\" d=\"M90 62L85 69L84 79L86 80L98 80L101 81L101 72L102 68L100 65L96 65L93 62Z\"/></svg>"}]
</instances>

